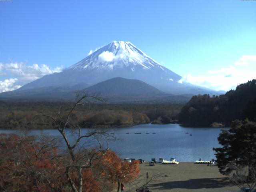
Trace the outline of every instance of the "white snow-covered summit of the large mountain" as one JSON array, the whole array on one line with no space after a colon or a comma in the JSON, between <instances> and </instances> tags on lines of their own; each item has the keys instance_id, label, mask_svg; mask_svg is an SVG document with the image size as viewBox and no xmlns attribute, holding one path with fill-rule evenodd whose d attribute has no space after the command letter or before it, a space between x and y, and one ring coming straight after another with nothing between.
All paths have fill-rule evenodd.
<instances>
[{"instance_id":1,"label":"white snow-covered summit of the large mountain","mask_svg":"<svg viewBox=\"0 0 256 192\"><path fill-rule=\"evenodd\" d=\"M165 70L158 62L128 41L111 42L69 67L68 70L115 70L117 68L128 68L128 70L134 71L137 67L145 70L151 68Z\"/></svg>"}]
</instances>

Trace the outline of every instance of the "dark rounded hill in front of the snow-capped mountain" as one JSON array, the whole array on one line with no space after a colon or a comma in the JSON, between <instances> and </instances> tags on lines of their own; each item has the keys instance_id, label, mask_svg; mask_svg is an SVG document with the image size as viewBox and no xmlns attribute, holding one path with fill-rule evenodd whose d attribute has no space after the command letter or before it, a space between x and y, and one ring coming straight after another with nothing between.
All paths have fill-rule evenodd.
<instances>
[{"instance_id":1,"label":"dark rounded hill in front of the snow-capped mountain","mask_svg":"<svg viewBox=\"0 0 256 192\"><path fill-rule=\"evenodd\" d=\"M140 80L125 79L121 77L112 78L93 86L84 91L89 94L100 93L108 102L152 102L152 103L184 103L192 95L166 94L153 86Z\"/></svg>"}]
</instances>

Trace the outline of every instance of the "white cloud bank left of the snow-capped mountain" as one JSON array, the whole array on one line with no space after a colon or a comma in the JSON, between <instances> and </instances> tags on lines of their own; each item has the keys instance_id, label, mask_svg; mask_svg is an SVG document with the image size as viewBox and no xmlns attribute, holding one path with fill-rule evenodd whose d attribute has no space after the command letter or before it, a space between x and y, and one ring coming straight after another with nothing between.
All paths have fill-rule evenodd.
<instances>
[{"instance_id":1,"label":"white cloud bank left of the snow-capped mountain","mask_svg":"<svg viewBox=\"0 0 256 192\"><path fill-rule=\"evenodd\" d=\"M23 62L0 63L0 92L12 91L42 76L61 72L63 66L51 68L45 64L28 65ZM6 77L6 78L4 78Z\"/></svg>"}]
</instances>

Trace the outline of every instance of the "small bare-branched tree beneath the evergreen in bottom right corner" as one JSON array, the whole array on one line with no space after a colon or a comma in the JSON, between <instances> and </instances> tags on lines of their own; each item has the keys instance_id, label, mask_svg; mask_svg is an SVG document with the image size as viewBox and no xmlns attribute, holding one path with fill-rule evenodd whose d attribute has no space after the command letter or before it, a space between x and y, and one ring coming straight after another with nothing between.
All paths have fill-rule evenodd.
<instances>
[{"instance_id":1,"label":"small bare-branched tree beneath the evergreen in bottom right corner","mask_svg":"<svg viewBox=\"0 0 256 192\"><path fill-rule=\"evenodd\" d=\"M251 168L250 174L248 174L248 166L236 166L229 179L242 191L246 192L245 189L248 188L249 192L253 192L256 188L256 168Z\"/></svg>"}]
</instances>

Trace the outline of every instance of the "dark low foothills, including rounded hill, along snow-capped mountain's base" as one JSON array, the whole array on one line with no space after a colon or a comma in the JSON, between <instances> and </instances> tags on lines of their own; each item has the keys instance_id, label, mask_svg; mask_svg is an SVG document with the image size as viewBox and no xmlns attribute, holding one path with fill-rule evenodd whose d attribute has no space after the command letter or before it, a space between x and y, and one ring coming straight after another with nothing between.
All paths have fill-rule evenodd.
<instances>
[{"instance_id":1,"label":"dark low foothills, including rounded hill, along snow-capped mountain's base","mask_svg":"<svg viewBox=\"0 0 256 192\"><path fill-rule=\"evenodd\" d=\"M50 101L71 101L75 99L75 90L79 85L72 87L42 87L28 90L16 90L14 92L4 92L0 94L0 99L4 100L50 100ZM121 77L112 78L88 88L80 90L88 94L99 93L106 98L106 102L187 102L192 95L172 95L166 94L153 86L140 80L125 79Z\"/></svg>"}]
</instances>

